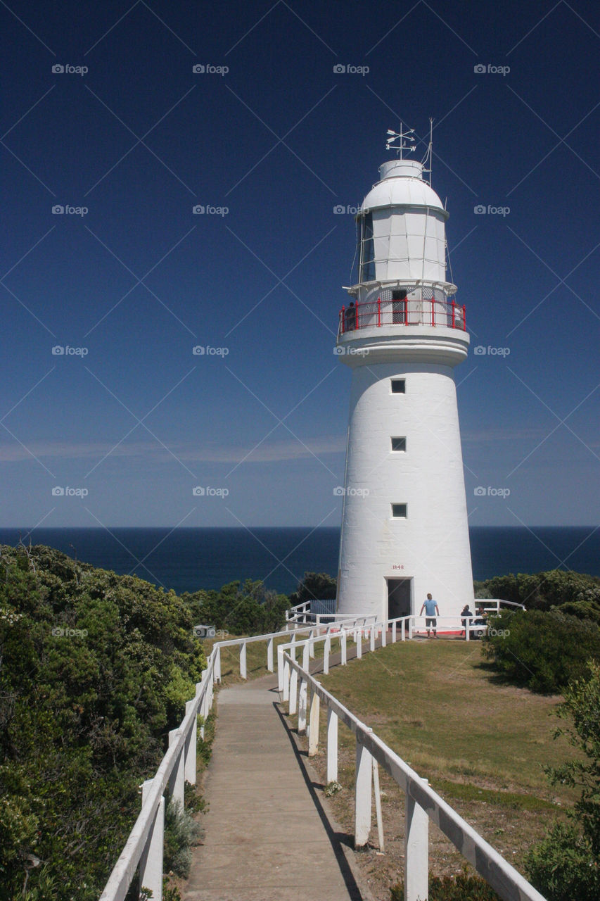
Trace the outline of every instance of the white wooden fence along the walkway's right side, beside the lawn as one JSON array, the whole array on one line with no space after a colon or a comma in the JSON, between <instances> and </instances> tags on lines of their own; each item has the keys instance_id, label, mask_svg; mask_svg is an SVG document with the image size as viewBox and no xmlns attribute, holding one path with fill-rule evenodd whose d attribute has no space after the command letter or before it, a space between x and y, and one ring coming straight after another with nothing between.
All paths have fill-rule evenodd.
<instances>
[{"instance_id":1,"label":"white wooden fence along the walkway's right side, beside the lawn","mask_svg":"<svg viewBox=\"0 0 600 901\"><path fill-rule=\"evenodd\" d=\"M303 642L308 647L309 640ZM371 830L375 788L378 843L384 849L378 766L383 767L405 791L405 901L420 901L429 894L429 821L432 820L468 863L486 879L503 901L545 901L544 897L453 810L419 775L392 751L367 725L342 705L283 651L285 681L282 696L288 713L298 714L298 733L308 732L308 753L319 748L321 705L327 710L327 782L338 778L338 722L356 738L354 778L354 846L364 847ZM307 656L307 655L306 655ZM308 728L307 728L308 722Z\"/></svg>"}]
</instances>

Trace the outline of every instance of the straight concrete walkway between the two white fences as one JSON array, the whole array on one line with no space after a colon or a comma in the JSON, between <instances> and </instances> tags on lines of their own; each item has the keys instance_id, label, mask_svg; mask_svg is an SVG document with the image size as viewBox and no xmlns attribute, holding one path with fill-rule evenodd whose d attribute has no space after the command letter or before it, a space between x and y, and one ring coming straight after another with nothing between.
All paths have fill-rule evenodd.
<instances>
[{"instance_id":1,"label":"straight concrete walkway between the two white fences","mask_svg":"<svg viewBox=\"0 0 600 901\"><path fill-rule=\"evenodd\" d=\"M204 843L184 901L364 901L279 713L277 678L223 688L205 778Z\"/></svg>"}]
</instances>

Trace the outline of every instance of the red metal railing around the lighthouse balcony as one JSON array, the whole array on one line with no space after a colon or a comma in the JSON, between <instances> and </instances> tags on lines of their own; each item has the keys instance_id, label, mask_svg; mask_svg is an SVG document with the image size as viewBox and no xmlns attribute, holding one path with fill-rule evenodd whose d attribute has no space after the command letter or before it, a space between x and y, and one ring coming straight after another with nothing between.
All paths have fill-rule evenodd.
<instances>
[{"instance_id":1,"label":"red metal railing around the lighthouse balcony","mask_svg":"<svg viewBox=\"0 0 600 901\"><path fill-rule=\"evenodd\" d=\"M382 301L377 297L376 301L342 306L339 320L339 334L373 326L381 328L383 325L441 325L461 332L467 330L465 306L435 298Z\"/></svg>"}]
</instances>

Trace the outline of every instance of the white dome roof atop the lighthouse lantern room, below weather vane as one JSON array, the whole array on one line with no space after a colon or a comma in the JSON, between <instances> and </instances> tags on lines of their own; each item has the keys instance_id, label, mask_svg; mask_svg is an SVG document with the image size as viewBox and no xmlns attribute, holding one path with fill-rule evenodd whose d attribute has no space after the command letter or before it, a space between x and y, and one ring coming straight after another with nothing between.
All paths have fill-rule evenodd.
<instances>
[{"instance_id":1,"label":"white dome roof atop the lighthouse lantern room, below weather vane","mask_svg":"<svg viewBox=\"0 0 600 901\"><path fill-rule=\"evenodd\" d=\"M361 212L385 206L424 206L439 210L444 219L448 214L440 197L423 181L423 164L414 159L392 159L379 167L381 181L377 182L361 204Z\"/></svg>"}]
</instances>

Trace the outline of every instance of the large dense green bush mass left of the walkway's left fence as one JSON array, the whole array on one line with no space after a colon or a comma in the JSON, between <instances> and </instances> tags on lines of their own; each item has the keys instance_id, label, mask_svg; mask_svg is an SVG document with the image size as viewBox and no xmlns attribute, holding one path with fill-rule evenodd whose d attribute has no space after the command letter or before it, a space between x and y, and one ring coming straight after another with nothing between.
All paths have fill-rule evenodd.
<instances>
[{"instance_id":1,"label":"large dense green bush mass left of the walkway's left fence","mask_svg":"<svg viewBox=\"0 0 600 901\"><path fill-rule=\"evenodd\" d=\"M95 901L205 654L173 592L46 547L0 563L0 901Z\"/></svg>"}]
</instances>

